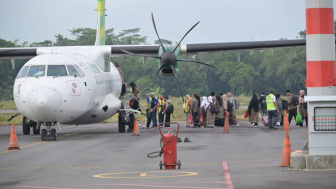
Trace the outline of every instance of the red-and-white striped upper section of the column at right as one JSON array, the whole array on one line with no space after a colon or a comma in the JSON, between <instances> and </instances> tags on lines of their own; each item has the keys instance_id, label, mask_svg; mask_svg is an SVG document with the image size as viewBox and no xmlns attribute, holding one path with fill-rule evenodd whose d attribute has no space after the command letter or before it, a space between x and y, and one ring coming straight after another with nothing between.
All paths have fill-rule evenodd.
<instances>
[{"instance_id":1,"label":"red-and-white striped upper section of the column at right","mask_svg":"<svg viewBox=\"0 0 336 189\"><path fill-rule=\"evenodd\" d=\"M307 93L335 95L335 31L332 0L306 0Z\"/></svg>"}]
</instances>

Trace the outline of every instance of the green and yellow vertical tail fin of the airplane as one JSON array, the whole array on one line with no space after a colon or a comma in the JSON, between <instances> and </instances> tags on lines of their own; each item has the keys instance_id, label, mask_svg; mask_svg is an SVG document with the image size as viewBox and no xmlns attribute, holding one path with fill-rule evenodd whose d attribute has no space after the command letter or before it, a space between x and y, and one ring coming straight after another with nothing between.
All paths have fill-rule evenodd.
<instances>
[{"instance_id":1,"label":"green and yellow vertical tail fin of the airplane","mask_svg":"<svg viewBox=\"0 0 336 189\"><path fill-rule=\"evenodd\" d=\"M98 0L97 34L95 45L105 45L105 0Z\"/></svg>"}]
</instances>

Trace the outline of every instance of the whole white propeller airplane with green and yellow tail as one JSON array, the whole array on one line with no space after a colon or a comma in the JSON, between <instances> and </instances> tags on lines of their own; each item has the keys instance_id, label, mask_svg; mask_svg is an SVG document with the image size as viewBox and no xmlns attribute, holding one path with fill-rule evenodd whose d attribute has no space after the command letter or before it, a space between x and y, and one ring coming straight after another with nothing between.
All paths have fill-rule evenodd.
<instances>
[{"instance_id":1,"label":"whole white propeller airplane with green and yellow tail","mask_svg":"<svg viewBox=\"0 0 336 189\"><path fill-rule=\"evenodd\" d=\"M158 59L159 70L164 76L175 76L183 62L195 62L179 58L181 54L239 51L280 47L305 46L305 39L274 40L230 43L177 45L105 45L105 0L98 0L97 33L94 46L57 46L32 48L0 48L1 59L27 59L19 71L13 88L14 101L24 116L23 134L41 133L41 140L56 140L54 126L82 125L102 122L116 113L119 132L125 126L134 125L137 110L127 109L122 101L122 80L111 56L143 56ZM154 79L152 77L151 81ZM178 80L177 80L178 83ZM181 91L181 86L178 83ZM46 127L42 129L41 127Z\"/></svg>"}]
</instances>

